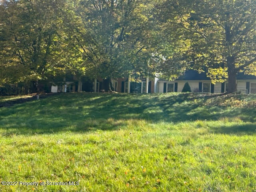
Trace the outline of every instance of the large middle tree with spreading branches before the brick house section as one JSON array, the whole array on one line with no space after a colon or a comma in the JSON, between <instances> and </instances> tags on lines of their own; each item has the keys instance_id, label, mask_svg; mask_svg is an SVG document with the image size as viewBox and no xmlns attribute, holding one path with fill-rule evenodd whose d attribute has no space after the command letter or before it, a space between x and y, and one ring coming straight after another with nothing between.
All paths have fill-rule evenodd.
<instances>
[{"instance_id":1,"label":"large middle tree with spreading branches before the brick house section","mask_svg":"<svg viewBox=\"0 0 256 192\"><path fill-rule=\"evenodd\" d=\"M103 78L105 90L118 77L150 76L155 70L156 30L148 0L79 0L65 24L86 76ZM64 11L65 12L65 11ZM74 19L76 18L76 19Z\"/></svg>"}]
</instances>

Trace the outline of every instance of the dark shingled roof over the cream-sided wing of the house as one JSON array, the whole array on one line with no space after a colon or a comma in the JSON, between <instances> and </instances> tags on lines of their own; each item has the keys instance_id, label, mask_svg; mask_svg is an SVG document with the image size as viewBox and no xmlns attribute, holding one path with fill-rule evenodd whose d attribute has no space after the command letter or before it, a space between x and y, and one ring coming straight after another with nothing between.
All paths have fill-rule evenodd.
<instances>
[{"instance_id":1,"label":"dark shingled roof over the cream-sided wing of the house","mask_svg":"<svg viewBox=\"0 0 256 192\"><path fill-rule=\"evenodd\" d=\"M245 75L244 73L238 73L236 76L238 80L256 80L256 76L254 75ZM165 81L165 79L159 79L160 81ZM176 81L188 81L188 80L210 80L209 77L206 76L206 73L199 73L196 70L187 70L184 75L180 76L176 79Z\"/></svg>"}]
</instances>

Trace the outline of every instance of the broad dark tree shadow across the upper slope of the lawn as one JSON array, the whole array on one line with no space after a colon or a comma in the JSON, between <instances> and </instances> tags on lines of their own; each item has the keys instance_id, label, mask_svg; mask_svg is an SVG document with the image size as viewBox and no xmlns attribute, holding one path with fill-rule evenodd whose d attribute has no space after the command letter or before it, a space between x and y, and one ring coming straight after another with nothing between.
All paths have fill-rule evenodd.
<instances>
[{"instance_id":1,"label":"broad dark tree shadow across the upper slope of the lawn","mask_svg":"<svg viewBox=\"0 0 256 192\"><path fill-rule=\"evenodd\" d=\"M255 120L254 108L205 105L210 99L218 96L221 95L61 94L1 108L0 128L9 134L30 134L68 130L115 130L125 126L125 121L130 119L154 123L236 117L251 122ZM225 96L225 99L228 100L229 96Z\"/></svg>"}]
</instances>

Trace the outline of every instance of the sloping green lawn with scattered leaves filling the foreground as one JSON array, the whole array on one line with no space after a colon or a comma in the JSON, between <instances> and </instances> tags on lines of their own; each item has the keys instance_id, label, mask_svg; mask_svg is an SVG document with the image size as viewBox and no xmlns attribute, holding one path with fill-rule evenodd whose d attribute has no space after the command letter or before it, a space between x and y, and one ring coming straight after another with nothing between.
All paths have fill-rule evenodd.
<instances>
[{"instance_id":1,"label":"sloping green lawn with scattered leaves filling the foreground","mask_svg":"<svg viewBox=\"0 0 256 192\"><path fill-rule=\"evenodd\" d=\"M61 94L0 108L0 191L256 191L256 95Z\"/></svg>"}]
</instances>

